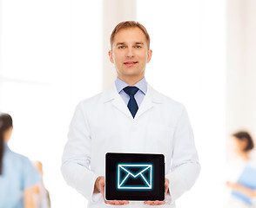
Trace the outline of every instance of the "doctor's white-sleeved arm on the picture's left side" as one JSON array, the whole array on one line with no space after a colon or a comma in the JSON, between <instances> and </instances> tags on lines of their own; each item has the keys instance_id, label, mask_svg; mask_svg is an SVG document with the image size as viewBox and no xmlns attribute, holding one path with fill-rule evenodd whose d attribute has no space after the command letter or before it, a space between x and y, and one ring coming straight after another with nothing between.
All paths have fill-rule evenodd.
<instances>
[{"instance_id":1,"label":"doctor's white-sleeved arm on the picture's left side","mask_svg":"<svg viewBox=\"0 0 256 208\"><path fill-rule=\"evenodd\" d=\"M90 170L91 133L82 108L80 102L71 120L61 170L67 184L75 188L85 198L91 200L94 183L98 175Z\"/></svg>"}]
</instances>

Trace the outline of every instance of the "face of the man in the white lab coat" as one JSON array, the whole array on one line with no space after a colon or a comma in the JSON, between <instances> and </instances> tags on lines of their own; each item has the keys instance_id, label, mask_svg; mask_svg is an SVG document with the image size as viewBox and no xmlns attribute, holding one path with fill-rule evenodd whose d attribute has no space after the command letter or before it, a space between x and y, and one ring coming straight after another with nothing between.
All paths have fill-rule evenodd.
<instances>
[{"instance_id":1,"label":"face of the man in the white lab coat","mask_svg":"<svg viewBox=\"0 0 256 208\"><path fill-rule=\"evenodd\" d=\"M148 49L146 37L139 28L121 29L116 34L109 51L121 80L141 80L145 75L145 64L150 62L152 50Z\"/></svg>"}]
</instances>

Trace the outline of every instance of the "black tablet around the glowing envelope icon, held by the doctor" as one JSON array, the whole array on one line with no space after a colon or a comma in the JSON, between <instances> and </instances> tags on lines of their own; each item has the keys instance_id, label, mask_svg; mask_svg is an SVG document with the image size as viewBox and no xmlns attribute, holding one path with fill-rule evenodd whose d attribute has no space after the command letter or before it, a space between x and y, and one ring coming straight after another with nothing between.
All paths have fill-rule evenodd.
<instances>
[{"instance_id":1,"label":"black tablet around the glowing envelope icon, held by the doctor","mask_svg":"<svg viewBox=\"0 0 256 208\"><path fill-rule=\"evenodd\" d=\"M118 164L152 164L152 190L118 190ZM165 156L154 153L106 153L105 199L147 201L165 200Z\"/></svg>"}]
</instances>

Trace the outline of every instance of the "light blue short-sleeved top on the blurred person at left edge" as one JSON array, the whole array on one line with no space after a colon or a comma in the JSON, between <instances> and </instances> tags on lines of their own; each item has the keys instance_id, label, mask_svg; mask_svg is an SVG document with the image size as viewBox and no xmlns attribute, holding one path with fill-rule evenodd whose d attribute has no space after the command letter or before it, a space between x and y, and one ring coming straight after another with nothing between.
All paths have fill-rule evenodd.
<instances>
[{"instance_id":1,"label":"light blue short-sleeved top on the blurred person at left edge","mask_svg":"<svg viewBox=\"0 0 256 208\"><path fill-rule=\"evenodd\" d=\"M0 207L23 208L24 189L40 182L39 172L30 159L12 152L5 144L3 173L0 175Z\"/></svg>"}]
</instances>

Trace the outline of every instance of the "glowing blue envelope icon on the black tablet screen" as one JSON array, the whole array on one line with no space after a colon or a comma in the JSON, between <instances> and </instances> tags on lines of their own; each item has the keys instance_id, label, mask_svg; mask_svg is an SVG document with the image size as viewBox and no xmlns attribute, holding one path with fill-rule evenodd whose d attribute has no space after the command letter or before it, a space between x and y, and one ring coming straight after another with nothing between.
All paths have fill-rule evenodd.
<instances>
[{"instance_id":1,"label":"glowing blue envelope icon on the black tablet screen","mask_svg":"<svg viewBox=\"0 0 256 208\"><path fill-rule=\"evenodd\" d=\"M152 164L118 164L118 189L152 189Z\"/></svg>"}]
</instances>

